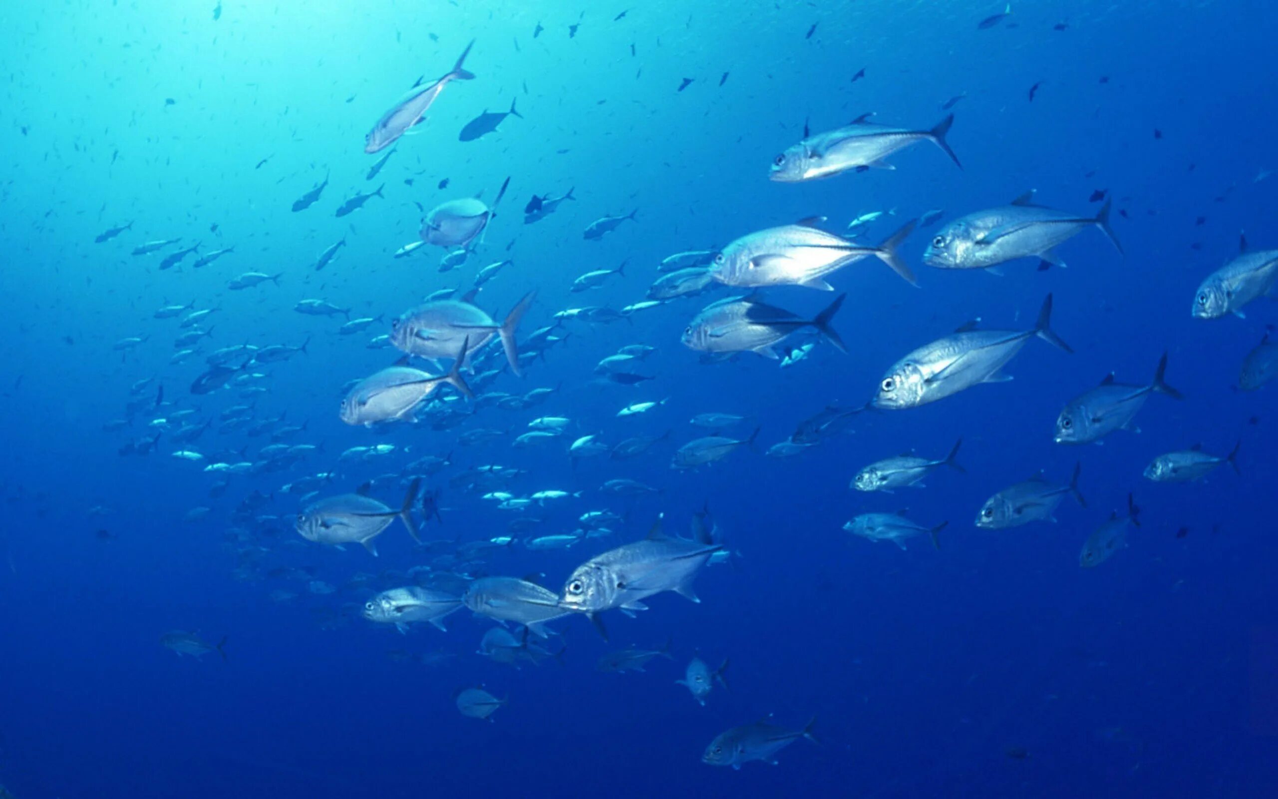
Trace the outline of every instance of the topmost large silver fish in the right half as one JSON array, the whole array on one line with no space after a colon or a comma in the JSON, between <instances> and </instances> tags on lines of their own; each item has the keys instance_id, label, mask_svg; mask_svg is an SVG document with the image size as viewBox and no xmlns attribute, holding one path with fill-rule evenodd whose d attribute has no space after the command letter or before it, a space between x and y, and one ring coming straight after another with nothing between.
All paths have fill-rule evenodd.
<instances>
[{"instance_id":1,"label":"topmost large silver fish in the right half","mask_svg":"<svg viewBox=\"0 0 1278 799\"><path fill-rule=\"evenodd\" d=\"M884 159L918 142L932 142L960 169L958 156L950 148L946 134L953 114L928 130L892 128L869 121L863 114L851 124L804 138L772 159L768 179L774 183L803 183L868 169L896 169Z\"/></svg>"}]
</instances>

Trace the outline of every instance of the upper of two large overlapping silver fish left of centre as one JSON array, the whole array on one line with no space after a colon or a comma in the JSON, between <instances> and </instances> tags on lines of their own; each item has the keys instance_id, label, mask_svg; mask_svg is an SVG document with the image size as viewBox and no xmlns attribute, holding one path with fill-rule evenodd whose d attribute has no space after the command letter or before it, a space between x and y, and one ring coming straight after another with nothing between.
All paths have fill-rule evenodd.
<instances>
[{"instance_id":1,"label":"upper of two large overlapping silver fish left of centre","mask_svg":"<svg viewBox=\"0 0 1278 799\"><path fill-rule=\"evenodd\" d=\"M511 371L521 375L515 329L537 291L529 291L515 303L501 325L473 304L477 293L478 289L473 289L461 299L437 299L405 311L391 321L391 344L419 358L447 358L466 340L469 355L474 355L484 344L498 337ZM468 367L469 363L463 364L463 368Z\"/></svg>"}]
</instances>

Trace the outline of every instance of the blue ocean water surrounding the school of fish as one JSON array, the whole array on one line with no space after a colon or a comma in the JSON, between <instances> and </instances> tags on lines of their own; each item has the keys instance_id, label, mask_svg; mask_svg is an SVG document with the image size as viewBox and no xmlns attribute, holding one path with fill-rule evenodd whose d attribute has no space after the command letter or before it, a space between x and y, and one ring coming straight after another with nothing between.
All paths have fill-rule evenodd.
<instances>
[{"instance_id":1,"label":"blue ocean water surrounding the school of fish","mask_svg":"<svg viewBox=\"0 0 1278 799\"><path fill-rule=\"evenodd\" d=\"M1203 321L1190 307L1199 284L1237 256L1240 231L1256 249L1278 248L1266 55L1278 20L1260 3L1044 0L1013 3L1005 17L999 5L5 6L0 785L22 799L1269 795L1278 784L1278 389L1237 386L1278 309L1259 299L1245 318ZM385 155L363 152L369 128L419 77L443 75L472 40L465 68L475 78L449 83L367 180ZM468 121L512 98L521 119L459 141ZM923 142L892 155L893 170L768 180L773 157L805 125L815 134L870 111L906 129L953 112L948 143L962 169ZM507 178L465 265L440 271L446 251L433 245L394 257L418 240L432 207L477 194L491 203ZM313 206L291 210L326 179ZM335 216L383 182L382 197ZM529 197L570 188L573 201L525 224ZM1084 216L1111 199L1126 254L1088 229L1059 247L1067 268L1022 260L999 277L921 262L944 225L1029 189ZM635 210L601 240L583 238L594 220ZM792 367L754 353L704 362L680 336L704 306L745 294L720 286L606 323L564 320L555 335L566 340L525 353L523 377L489 345L477 371L501 371L477 391L553 389L541 404L481 398L446 424L429 413L376 428L339 417L349 381L401 354L369 340L433 291L465 293L489 263L511 261L475 299L498 321L537 291L523 340L570 308L643 300L657 265L676 252L718 251L814 215L845 231L858 216L895 211L865 226L861 240L873 244L929 210L943 210L941 221L902 247L919 288L873 258L828 279L846 293L833 320L846 354L803 332L797 340L815 346ZM317 271L339 240L337 258ZM225 248L234 249L193 266ZM622 262L624 275L570 290L579 275ZM244 272L279 281L229 289ZM1052 326L1074 354L1029 341L1008 366L1011 382L866 410L794 458L766 455L823 408L863 405L897 359L970 320L1029 329L1049 293ZM778 286L757 297L808 317L835 295ZM294 311L308 298L374 321L341 335L346 317ZM190 307L155 317L170 304ZM193 325L208 335L170 363L183 349L173 341L189 330L184 317L199 309L212 311ZM130 337L141 341L123 344ZM305 353L282 362L230 363L243 367L236 377L265 377L190 391L215 350L304 343ZM596 373L633 344L656 348L638 367L652 380L621 385ZM1183 400L1151 396L1139 433L1053 442L1066 403L1109 372L1144 385L1164 352ZM148 382L134 390L139 381ZM250 386L265 390L242 392ZM249 405L238 428L224 421L235 405ZM711 412L749 417L730 435L758 426L757 444L702 469L671 469L675 449L705 435L689 419ZM571 419L569 432L514 449L543 415ZM204 422L198 438L170 441ZM303 423L289 444L320 449L272 464L262 454L272 433ZM463 444L473 430L498 433ZM566 453L579 436L615 445L667 431L634 459L574 467ZM849 488L874 460L909 450L941 458L960 437L965 473L939 469L927 488L896 493ZM1238 440L1240 474L1143 477L1162 453L1201 442L1223 455ZM373 445L394 451L340 458ZM447 556L450 545L441 557L392 522L373 557L294 532L305 502L366 481L397 506L408 464L427 455L450 465L426 478L442 523L418 510L423 536L460 545L509 536L510 546L466 560ZM253 465L206 472L212 463ZM1056 524L973 524L994 492L1040 469L1063 482L1076 463L1085 509L1066 499ZM502 486L515 497L581 496L498 510L481 497L497 488L465 478L486 464L521 470ZM320 472L335 476L316 496L282 490ZM599 485L611 478L661 492L608 496ZM1105 562L1080 568L1084 541L1125 510L1128 493L1140 527ZM360 616L377 591L422 575L539 574L558 592L574 568L642 538L658 514L668 532L688 534L703 508L732 556L697 578L702 602L662 593L634 619L607 611L608 640L584 617L557 620L562 638L547 647L566 647L562 665L515 670L478 655L493 623L466 610L446 633L413 625L405 635ZM842 529L858 514L906 508L927 527L948 522L938 550L927 536L902 551ZM611 536L566 550L524 546L571 533L590 510L622 519ZM543 520L512 533L515 518ZM210 646L225 638L225 658L164 647L170 630ZM607 652L667 639L674 660L657 657L644 672L596 669ZM731 661L731 690L716 688L705 707L675 684L697 652L712 667ZM477 685L507 699L491 722L454 703L458 689ZM815 716L820 743L796 740L777 766L700 762L716 735L768 713L795 730Z\"/></svg>"}]
</instances>

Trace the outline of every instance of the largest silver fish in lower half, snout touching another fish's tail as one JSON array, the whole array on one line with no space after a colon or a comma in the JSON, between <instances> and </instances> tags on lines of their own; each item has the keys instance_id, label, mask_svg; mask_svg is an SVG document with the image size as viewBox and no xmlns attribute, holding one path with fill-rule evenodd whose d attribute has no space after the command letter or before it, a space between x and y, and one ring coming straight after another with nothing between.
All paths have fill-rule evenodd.
<instances>
[{"instance_id":1,"label":"largest silver fish in lower half, snout touching another fish's tail","mask_svg":"<svg viewBox=\"0 0 1278 799\"><path fill-rule=\"evenodd\" d=\"M658 516L643 541L608 550L574 569L564 583L560 606L593 619L611 609L644 610L643 600L666 591L700 602L693 580L722 548L708 539L667 536Z\"/></svg>"}]
</instances>

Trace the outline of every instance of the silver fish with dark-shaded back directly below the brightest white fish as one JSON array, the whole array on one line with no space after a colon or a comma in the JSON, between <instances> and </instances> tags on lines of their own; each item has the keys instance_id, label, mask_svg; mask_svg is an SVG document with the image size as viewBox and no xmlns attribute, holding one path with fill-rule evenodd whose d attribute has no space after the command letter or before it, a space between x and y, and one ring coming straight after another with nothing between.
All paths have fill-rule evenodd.
<instances>
[{"instance_id":1,"label":"silver fish with dark-shaded back directly below the brightest white fish","mask_svg":"<svg viewBox=\"0 0 1278 799\"><path fill-rule=\"evenodd\" d=\"M810 320L748 297L730 297L703 308L684 329L684 346L702 353L751 352L778 361L774 346L804 327L813 327L842 353L847 346L831 321L843 304L840 294Z\"/></svg>"}]
</instances>

